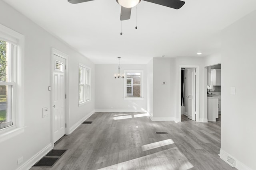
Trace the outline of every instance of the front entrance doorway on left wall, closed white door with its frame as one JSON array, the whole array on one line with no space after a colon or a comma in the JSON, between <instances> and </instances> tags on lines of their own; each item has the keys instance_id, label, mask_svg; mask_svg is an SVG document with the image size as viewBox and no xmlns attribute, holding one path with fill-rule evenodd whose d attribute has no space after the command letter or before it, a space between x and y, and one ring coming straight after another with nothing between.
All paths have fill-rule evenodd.
<instances>
[{"instance_id":1,"label":"front entrance doorway on left wall, closed white door with its frame","mask_svg":"<svg viewBox=\"0 0 256 170\"><path fill-rule=\"evenodd\" d=\"M52 49L52 144L68 134L67 93L66 93L67 56Z\"/></svg>"}]
</instances>

